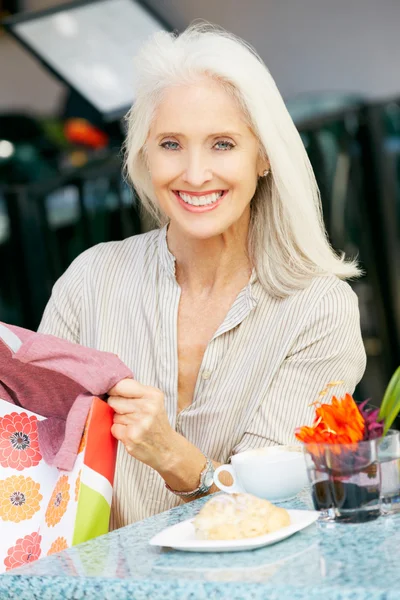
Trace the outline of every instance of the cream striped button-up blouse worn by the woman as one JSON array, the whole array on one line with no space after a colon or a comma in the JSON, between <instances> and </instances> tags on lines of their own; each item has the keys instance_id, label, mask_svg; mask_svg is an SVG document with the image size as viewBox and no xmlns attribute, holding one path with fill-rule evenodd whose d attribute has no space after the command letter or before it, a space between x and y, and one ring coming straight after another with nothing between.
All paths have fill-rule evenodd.
<instances>
[{"instance_id":1,"label":"cream striped button-up blouse worn by the woman","mask_svg":"<svg viewBox=\"0 0 400 600\"><path fill-rule=\"evenodd\" d=\"M334 276L285 299L253 274L209 342L193 402L177 414L180 287L166 228L81 254L57 281L40 331L114 352L165 395L171 426L218 462L249 448L295 441L332 380L352 393L365 369L357 296ZM119 444L115 529L180 503L160 475Z\"/></svg>"}]
</instances>

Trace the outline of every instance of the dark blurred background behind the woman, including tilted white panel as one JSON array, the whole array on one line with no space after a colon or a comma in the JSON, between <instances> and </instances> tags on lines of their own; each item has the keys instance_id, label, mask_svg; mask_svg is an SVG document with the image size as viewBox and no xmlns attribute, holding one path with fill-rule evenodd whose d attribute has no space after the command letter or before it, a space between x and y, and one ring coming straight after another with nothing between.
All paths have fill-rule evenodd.
<instances>
[{"instance_id":1,"label":"dark blurred background behind the woman, including tilted white panel","mask_svg":"<svg viewBox=\"0 0 400 600\"><path fill-rule=\"evenodd\" d=\"M398 0L0 0L0 321L35 329L80 252L148 227L121 175L131 57L196 18L250 42L284 96L330 240L365 270L356 397L379 405L400 364Z\"/></svg>"}]
</instances>

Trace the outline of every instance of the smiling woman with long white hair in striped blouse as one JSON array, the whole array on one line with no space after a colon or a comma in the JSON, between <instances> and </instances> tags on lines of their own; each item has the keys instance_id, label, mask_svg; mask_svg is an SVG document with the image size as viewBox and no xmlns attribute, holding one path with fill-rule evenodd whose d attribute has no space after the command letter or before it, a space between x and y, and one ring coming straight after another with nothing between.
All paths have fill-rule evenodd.
<instances>
[{"instance_id":1,"label":"smiling woman with long white hair in striped blouse","mask_svg":"<svg viewBox=\"0 0 400 600\"><path fill-rule=\"evenodd\" d=\"M210 25L137 60L126 167L161 229L100 244L40 330L115 352L112 527L215 491L213 469L294 441L320 390L365 368L354 262L330 248L301 139L261 59Z\"/></svg>"}]
</instances>

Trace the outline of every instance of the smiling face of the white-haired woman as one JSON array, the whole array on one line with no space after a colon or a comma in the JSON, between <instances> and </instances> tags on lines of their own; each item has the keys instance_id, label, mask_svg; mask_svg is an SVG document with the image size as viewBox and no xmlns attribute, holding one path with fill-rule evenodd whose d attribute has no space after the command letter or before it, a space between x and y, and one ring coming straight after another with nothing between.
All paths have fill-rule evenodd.
<instances>
[{"instance_id":1,"label":"smiling face of the white-haired woman","mask_svg":"<svg viewBox=\"0 0 400 600\"><path fill-rule=\"evenodd\" d=\"M209 239L248 227L267 163L234 99L212 79L166 90L147 139L152 185L174 231Z\"/></svg>"}]
</instances>

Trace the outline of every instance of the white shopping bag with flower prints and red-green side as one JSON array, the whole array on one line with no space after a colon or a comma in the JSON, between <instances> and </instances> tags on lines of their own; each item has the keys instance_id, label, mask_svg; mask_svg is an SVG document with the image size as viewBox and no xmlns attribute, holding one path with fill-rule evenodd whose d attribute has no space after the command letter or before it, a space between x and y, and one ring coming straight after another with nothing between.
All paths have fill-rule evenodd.
<instances>
[{"instance_id":1,"label":"white shopping bag with flower prints and red-green side","mask_svg":"<svg viewBox=\"0 0 400 600\"><path fill-rule=\"evenodd\" d=\"M44 417L0 400L0 572L107 533L113 413L93 397L74 467L60 471L40 453Z\"/></svg>"}]
</instances>

